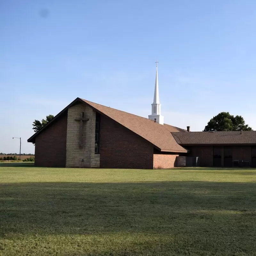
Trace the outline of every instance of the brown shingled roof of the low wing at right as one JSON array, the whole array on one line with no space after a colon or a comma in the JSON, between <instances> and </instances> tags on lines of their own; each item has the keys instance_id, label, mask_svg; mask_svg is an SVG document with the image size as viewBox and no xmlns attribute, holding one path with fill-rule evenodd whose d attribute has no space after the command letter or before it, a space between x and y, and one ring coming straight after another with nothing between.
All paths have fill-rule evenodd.
<instances>
[{"instance_id":1,"label":"brown shingled roof of the low wing at right","mask_svg":"<svg viewBox=\"0 0 256 256\"><path fill-rule=\"evenodd\" d=\"M256 131L172 132L180 145L256 144Z\"/></svg>"}]
</instances>

